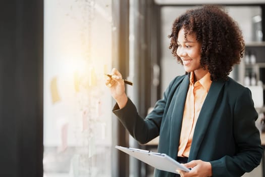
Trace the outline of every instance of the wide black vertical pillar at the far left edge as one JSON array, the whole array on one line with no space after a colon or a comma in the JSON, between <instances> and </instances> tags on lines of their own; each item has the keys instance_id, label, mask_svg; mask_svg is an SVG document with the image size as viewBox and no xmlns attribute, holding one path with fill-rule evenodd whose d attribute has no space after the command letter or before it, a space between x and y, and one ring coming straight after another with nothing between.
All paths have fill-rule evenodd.
<instances>
[{"instance_id":1,"label":"wide black vertical pillar at the far left edge","mask_svg":"<svg viewBox=\"0 0 265 177\"><path fill-rule=\"evenodd\" d=\"M42 176L43 1L0 7L0 176Z\"/></svg>"}]
</instances>

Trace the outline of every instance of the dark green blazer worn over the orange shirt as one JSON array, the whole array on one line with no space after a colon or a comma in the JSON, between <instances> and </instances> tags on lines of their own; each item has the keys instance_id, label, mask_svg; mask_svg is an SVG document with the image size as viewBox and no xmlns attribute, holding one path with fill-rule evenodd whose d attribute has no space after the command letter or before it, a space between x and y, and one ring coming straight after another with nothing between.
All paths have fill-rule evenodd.
<instances>
[{"instance_id":1,"label":"dark green blazer worn over the orange shirt","mask_svg":"<svg viewBox=\"0 0 265 177\"><path fill-rule=\"evenodd\" d=\"M176 159L188 86L189 74L176 77L145 119L130 99L123 109L116 104L113 112L140 144L160 136L158 152ZM231 78L213 81L198 116L188 161L210 162L213 176L241 176L253 170L263 153L257 116L249 89ZM155 169L154 176L175 174Z\"/></svg>"}]
</instances>

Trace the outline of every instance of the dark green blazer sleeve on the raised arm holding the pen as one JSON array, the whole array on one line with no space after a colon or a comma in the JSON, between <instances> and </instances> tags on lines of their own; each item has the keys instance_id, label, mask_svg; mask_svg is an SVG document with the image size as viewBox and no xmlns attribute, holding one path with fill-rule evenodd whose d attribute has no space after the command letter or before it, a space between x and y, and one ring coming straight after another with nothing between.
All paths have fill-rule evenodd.
<instances>
[{"instance_id":1,"label":"dark green blazer sleeve on the raised arm holding the pen","mask_svg":"<svg viewBox=\"0 0 265 177\"><path fill-rule=\"evenodd\" d=\"M127 104L122 109L119 109L117 103L115 104L113 113L129 131L129 134L140 144L145 144L159 135L168 97L177 78L171 81L164 92L163 99L155 103L154 109L145 118L142 118L138 114L136 106L129 98Z\"/></svg>"}]
</instances>

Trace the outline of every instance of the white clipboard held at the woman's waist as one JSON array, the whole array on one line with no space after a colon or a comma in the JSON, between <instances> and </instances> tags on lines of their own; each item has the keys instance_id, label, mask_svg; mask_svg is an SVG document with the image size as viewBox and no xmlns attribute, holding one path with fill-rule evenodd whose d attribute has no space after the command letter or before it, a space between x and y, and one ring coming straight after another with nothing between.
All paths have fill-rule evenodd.
<instances>
[{"instance_id":1,"label":"white clipboard held at the woman's waist","mask_svg":"<svg viewBox=\"0 0 265 177\"><path fill-rule=\"evenodd\" d=\"M176 170L190 171L189 168L185 167L181 163L177 162L170 156L164 153L151 152L136 148L126 148L122 146L115 146L115 148L153 166L156 169L169 171L179 174Z\"/></svg>"}]
</instances>

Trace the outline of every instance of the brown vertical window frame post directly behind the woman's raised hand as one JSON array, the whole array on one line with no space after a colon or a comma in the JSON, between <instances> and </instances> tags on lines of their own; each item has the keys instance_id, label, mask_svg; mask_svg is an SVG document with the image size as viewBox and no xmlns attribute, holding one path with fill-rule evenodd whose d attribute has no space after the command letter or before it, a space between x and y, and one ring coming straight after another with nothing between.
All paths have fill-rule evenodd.
<instances>
[{"instance_id":1,"label":"brown vertical window frame post directly behind the woman's raised hand","mask_svg":"<svg viewBox=\"0 0 265 177\"><path fill-rule=\"evenodd\" d=\"M113 67L117 68L124 78L129 69L129 0L117 0L113 3ZM129 135L117 117L112 121L112 142L115 145L128 147ZM112 147L112 176L129 176L129 156Z\"/></svg>"}]
</instances>

